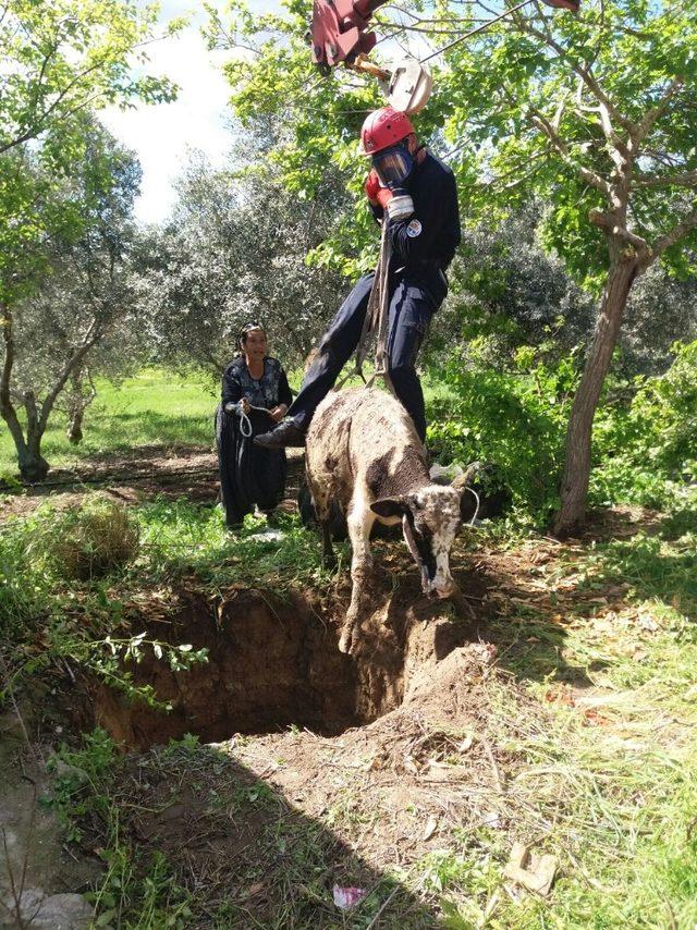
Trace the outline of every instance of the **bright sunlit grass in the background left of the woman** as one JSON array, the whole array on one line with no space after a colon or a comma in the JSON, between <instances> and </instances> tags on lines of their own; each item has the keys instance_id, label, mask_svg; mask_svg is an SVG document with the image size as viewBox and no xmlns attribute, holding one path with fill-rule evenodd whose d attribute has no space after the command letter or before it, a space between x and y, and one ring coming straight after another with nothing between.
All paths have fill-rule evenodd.
<instances>
[{"instance_id":1,"label":"bright sunlit grass in the background left of the woman","mask_svg":"<svg viewBox=\"0 0 697 930\"><path fill-rule=\"evenodd\" d=\"M147 368L120 384L97 381L97 397L87 408L84 439L71 445L66 417L54 413L41 451L53 467L71 467L94 456L129 452L139 445L212 446L213 412L219 386L203 374L183 377ZM0 426L0 475L16 472L12 438Z\"/></svg>"}]
</instances>

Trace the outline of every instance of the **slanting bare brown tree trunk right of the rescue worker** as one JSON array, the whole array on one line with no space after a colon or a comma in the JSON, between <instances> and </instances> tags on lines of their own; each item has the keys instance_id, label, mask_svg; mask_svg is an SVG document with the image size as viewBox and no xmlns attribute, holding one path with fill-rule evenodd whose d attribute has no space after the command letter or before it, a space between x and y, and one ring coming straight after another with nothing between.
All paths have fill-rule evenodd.
<instances>
[{"instance_id":1,"label":"slanting bare brown tree trunk right of the rescue worker","mask_svg":"<svg viewBox=\"0 0 697 930\"><path fill-rule=\"evenodd\" d=\"M561 507L554 533L564 537L584 523L590 479L592 420L610 368L624 308L639 270L636 255L620 253L613 258L602 295L600 314L584 372L574 397L566 432L566 457L561 482Z\"/></svg>"}]
</instances>

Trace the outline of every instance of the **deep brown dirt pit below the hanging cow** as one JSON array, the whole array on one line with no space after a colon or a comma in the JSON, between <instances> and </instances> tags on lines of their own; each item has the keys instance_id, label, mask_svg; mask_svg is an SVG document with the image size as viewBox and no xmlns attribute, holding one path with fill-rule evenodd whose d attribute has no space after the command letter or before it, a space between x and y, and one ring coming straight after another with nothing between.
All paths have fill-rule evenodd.
<instances>
[{"instance_id":1,"label":"deep brown dirt pit below the hanging cow","mask_svg":"<svg viewBox=\"0 0 697 930\"><path fill-rule=\"evenodd\" d=\"M376 597L383 608L365 621L357 653L347 657L338 648L340 604L299 595L281 601L248 588L212 602L192 594L171 615L132 624L147 639L208 650L207 662L174 672L148 647L132 668L134 683L150 686L171 710L90 682L83 722L103 726L126 749L185 733L219 743L291 725L335 736L370 723L400 707L472 636L472 622L456 607L426 601L412 586Z\"/></svg>"}]
</instances>

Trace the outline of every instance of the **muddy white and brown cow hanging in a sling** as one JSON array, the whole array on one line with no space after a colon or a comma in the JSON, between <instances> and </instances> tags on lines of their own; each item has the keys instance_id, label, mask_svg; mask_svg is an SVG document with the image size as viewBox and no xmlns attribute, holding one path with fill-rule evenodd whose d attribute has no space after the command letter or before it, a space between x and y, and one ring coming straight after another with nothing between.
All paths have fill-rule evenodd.
<instances>
[{"instance_id":1,"label":"muddy white and brown cow hanging in a sling","mask_svg":"<svg viewBox=\"0 0 697 930\"><path fill-rule=\"evenodd\" d=\"M460 493L433 485L426 451L404 407L371 388L329 394L318 406L306 440L307 484L322 527L325 564L335 563L329 533L331 501L346 515L353 548L353 591L339 648L351 652L363 589L372 558L374 522L401 523L421 572L424 592L455 591L449 554L461 526Z\"/></svg>"}]
</instances>

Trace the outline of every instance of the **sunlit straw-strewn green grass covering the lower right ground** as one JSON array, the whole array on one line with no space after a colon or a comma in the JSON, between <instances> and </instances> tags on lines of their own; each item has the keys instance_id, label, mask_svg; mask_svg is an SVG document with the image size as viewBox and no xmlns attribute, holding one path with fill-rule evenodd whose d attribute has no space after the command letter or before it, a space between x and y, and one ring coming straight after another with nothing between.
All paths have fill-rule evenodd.
<instances>
[{"instance_id":1,"label":"sunlit straw-strewn green grass covering the lower right ground","mask_svg":"<svg viewBox=\"0 0 697 930\"><path fill-rule=\"evenodd\" d=\"M548 587L529 609L494 621L500 662L535 703L512 736L503 689L491 721L524 760L498 801L508 832L482 828L432 865L453 930L697 926L696 503L562 548L533 570ZM512 839L558 857L548 900L505 892Z\"/></svg>"}]
</instances>

